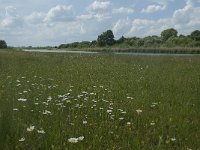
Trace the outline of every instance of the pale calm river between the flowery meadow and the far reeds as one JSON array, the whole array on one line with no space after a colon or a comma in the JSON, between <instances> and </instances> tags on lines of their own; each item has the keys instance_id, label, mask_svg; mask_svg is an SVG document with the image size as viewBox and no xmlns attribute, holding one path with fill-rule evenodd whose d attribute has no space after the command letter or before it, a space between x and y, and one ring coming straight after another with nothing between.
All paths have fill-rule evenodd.
<instances>
[{"instance_id":1,"label":"pale calm river between the flowery meadow and the far reeds","mask_svg":"<svg viewBox=\"0 0 200 150\"><path fill-rule=\"evenodd\" d=\"M99 52L89 51L69 51L69 50L48 50L48 49L34 49L25 52L41 52L41 53L71 53L71 54L98 54ZM167 54L167 53L134 53L134 52L113 52L116 55L135 55L135 56L200 56L200 54Z\"/></svg>"}]
</instances>

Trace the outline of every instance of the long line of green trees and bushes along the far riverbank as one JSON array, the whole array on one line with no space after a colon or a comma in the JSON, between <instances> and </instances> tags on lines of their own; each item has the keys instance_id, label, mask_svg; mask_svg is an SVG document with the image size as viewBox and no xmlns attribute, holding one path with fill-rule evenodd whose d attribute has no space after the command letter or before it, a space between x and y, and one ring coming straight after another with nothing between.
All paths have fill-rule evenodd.
<instances>
[{"instance_id":1,"label":"long line of green trees and bushes along the far riverbank","mask_svg":"<svg viewBox=\"0 0 200 150\"><path fill-rule=\"evenodd\" d=\"M160 36L124 37L115 40L112 30L100 34L94 41L73 42L61 44L59 48L95 48L95 47L120 47L120 48L174 48L174 47L200 47L200 31L195 30L190 35L178 35L174 28L163 30Z\"/></svg>"}]
</instances>

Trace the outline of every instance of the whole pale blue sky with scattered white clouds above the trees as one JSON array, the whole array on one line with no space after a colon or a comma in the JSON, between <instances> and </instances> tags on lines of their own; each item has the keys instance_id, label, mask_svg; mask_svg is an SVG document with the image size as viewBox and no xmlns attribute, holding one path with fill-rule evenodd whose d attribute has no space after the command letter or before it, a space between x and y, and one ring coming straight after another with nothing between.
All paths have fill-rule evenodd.
<instances>
[{"instance_id":1,"label":"whole pale blue sky with scattered white clouds above the trees","mask_svg":"<svg viewBox=\"0 0 200 150\"><path fill-rule=\"evenodd\" d=\"M9 46L57 46L200 30L200 0L0 0L0 39Z\"/></svg>"}]
</instances>

